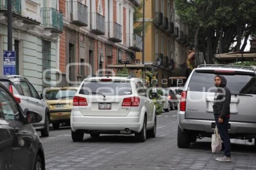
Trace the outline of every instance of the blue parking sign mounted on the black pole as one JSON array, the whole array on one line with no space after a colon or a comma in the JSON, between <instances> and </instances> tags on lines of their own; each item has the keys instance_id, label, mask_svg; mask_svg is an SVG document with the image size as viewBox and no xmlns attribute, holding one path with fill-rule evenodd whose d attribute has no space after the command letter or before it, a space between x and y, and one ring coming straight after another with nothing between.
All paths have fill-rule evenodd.
<instances>
[{"instance_id":1,"label":"blue parking sign mounted on the black pole","mask_svg":"<svg viewBox=\"0 0 256 170\"><path fill-rule=\"evenodd\" d=\"M4 75L15 75L15 51L4 51Z\"/></svg>"}]
</instances>

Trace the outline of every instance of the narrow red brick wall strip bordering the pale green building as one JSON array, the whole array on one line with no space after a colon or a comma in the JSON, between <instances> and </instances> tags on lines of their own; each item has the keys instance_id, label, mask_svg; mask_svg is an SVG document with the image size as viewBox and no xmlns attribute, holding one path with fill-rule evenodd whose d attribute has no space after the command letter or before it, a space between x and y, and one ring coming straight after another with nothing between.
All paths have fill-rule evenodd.
<instances>
[{"instance_id":1,"label":"narrow red brick wall strip bordering the pale green building","mask_svg":"<svg viewBox=\"0 0 256 170\"><path fill-rule=\"evenodd\" d=\"M60 34L60 70L66 72L66 28Z\"/></svg>"}]
</instances>

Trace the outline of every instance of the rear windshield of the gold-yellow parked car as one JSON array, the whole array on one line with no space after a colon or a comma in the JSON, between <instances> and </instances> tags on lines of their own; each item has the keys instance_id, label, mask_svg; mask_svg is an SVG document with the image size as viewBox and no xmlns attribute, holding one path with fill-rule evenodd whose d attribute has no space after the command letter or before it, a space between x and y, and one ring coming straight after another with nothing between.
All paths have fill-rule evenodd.
<instances>
[{"instance_id":1,"label":"rear windshield of the gold-yellow parked car","mask_svg":"<svg viewBox=\"0 0 256 170\"><path fill-rule=\"evenodd\" d=\"M76 90L50 90L46 92L47 100L58 100L73 98L76 94Z\"/></svg>"}]
</instances>

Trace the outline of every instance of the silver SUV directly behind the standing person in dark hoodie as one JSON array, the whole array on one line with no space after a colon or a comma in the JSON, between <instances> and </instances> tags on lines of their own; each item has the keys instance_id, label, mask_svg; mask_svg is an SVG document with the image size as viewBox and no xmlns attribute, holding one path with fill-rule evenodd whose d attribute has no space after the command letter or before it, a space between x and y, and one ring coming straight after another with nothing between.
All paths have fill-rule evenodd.
<instances>
[{"instance_id":1,"label":"silver SUV directly behind the standing person in dark hoodie","mask_svg":"<svg viewBox=\"0 0 256 170\"><path fill-rule=\"evenodd\" d=\"M180 99L178 111L178 147L189 147L197 138L211 137L214 77L227 79L231 91L229 136L252 142L256 136L256 76L254 68L234 65L199 65L190 74ZM181 90L180 90L181 92ZM254 140L255 141L255 140ZM254 143L256 145L256 143Z\"/></svg>"}]
</instances>

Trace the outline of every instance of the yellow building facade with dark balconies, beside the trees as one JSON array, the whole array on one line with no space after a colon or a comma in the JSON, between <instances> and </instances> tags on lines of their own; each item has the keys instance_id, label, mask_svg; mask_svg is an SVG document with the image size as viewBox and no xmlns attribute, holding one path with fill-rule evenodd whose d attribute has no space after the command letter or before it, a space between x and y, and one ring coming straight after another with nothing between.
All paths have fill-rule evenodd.
<instances>
[{"instance_id":1,"label":"yellow building facade with dark balconies, beside the trees","mask_svg":"<svg viewBox=\"0 0 256 170\"><path fill-rule=\"evenodd\" d=\"M170 87L172 77L188 58L188 26L180 21L174 0L145 1L145 65L157 71L159 87ZM135 26L142 24L142 19ZM142 61L142 53L136 58ZM182 75L179 75L182 76Z\"/></svg>"}]
</instances>

